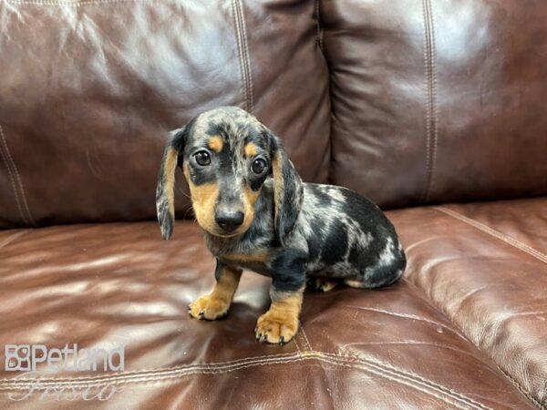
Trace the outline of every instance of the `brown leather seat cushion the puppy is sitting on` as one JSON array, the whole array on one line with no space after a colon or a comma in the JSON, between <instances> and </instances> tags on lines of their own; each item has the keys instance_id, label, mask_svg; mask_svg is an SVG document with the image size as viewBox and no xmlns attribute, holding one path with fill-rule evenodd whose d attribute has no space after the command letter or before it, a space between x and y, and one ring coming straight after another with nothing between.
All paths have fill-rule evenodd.
<instances>
[{"instance_id":1,"label":"brown leather seat cushion the puppy is sitting on","mask_svg":"<svg viewBox=\"0 0 547 410\"><path fill-rule=\"evenodd\" d=\"M411 231L397 228L408 241ZM533 408L424 298L412 271L410 281L379 291L306 292L301 331L283 347L254 340L269 281L251 272L226 319L191 319L186 304L214 281L201 236L190 221L169 242L154 222L0 232L0 344L125 345L122 373L66 372L43 382L77 388L93 377L121 390L78 408ZM54 394L10 402L7 394L24 395L28 383L4 372L0 406L73 408Z\"/></svg>"}]
</instances>

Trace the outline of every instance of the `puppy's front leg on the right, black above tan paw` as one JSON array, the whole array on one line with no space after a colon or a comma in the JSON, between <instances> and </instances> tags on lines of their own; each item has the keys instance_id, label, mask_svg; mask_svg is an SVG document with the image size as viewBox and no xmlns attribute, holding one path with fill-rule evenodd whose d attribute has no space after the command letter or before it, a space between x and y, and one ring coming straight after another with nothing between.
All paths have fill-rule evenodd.
<instances>
[{"instance_id":1,"label":"puppy's front leg on the right, black above tan paw","mask_svg":"<svg viewBox=\"0 0 547 410\"><path fill-rule=\"evenodd\" d=\"M284 253L274 261L270 310L258 318L255 336L261 342L287 343L298 330L305 286L304 258Z\"/></svg>"}]
</instances>

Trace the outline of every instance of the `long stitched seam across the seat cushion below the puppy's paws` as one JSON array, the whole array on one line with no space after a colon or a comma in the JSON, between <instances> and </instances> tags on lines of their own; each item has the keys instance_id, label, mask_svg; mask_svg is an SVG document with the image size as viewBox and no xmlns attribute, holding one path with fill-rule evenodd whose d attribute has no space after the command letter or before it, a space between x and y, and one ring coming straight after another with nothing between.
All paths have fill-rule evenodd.
<instances>
[{"instance_id":1,"label":"long stitched seam across the seat cushion below the puppy's paws","mask_svg":"<svg viewBox=\"0 0 547 410\"><path fill-rule=\"evenodd\" d=\"M439 399L453 405L456 405L456 404L450 402L444 396L448 396L451 399L454 399L459 402L463 402L463 404L469 405L474 408L490 409L490 407L481 405L480 403L474 401L473 399L470 399L470 397L467 397L465 395L460 395L457 392L454 392L439 384L430 382L427 379L423 379L419 376L417 378L413 378L412 376L415 376L415 374L407 374L406 372L401 372L399 369L393 366L382 364L381 362L375 363L374 361L366 360L361 357L338 356L335 354L324 354L321 352L305 352L304 354L289 354L285 357L281 357L281 356L282 355L274 355L270 359L256 360L253 362L242 362L240 364L227 365L227 366L212 366L212 365L202 364L202 365L190 366L185 369L179 369L179 370L170 371L170 372L155 371L155 372L150 372L150 374L139 374L135 377L122 378L122 377L103 376L98 380L98 383L93 385L104 385L104 384L112 384L112 383L129 384L129 383L148 382L148 381L155 381L155 380L166 380L166 379L177 378L177 377L186 376L190 374L224 374L224 373L237 371L237 370L241 370L244 368L253 367L257 365L298 363L304 360L315 359L315 360L323 361L329 364L335 364L335 365L346 366L346 367L354 367L356 369L363 370L368 373L378 374L380 376L393 380L397 383L406 384L428 395L433 395L435 397L438 397ZM356 364L361 364L362 366L369 366L369 367L367 368L357 367ZM391 367L391 369L389 367ZM163 374L160 374L160 373L163 373ZM28 389L31 385L35 384L35 381L36 379L14 380L12 381L12 383L10 383L11 385L0 384L0 390L13 391L13 390ZM26 382L26 383L21 383L21 382ZM36 390L45 389L47 388L47 385L49 384L72 385L72 386L77 386L77 385L88 386L89 385L89 380L86 380L84 378L48 379L48 380L40 379L40 382L41 382L40 387L36 388Z\"/></svg>"}]
</instances>

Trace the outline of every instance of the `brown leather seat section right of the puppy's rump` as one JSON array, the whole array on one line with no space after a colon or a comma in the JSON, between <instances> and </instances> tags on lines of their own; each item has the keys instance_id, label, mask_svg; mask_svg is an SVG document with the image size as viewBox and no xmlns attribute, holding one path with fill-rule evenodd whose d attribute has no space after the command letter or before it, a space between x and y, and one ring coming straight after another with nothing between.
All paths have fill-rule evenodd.
<instances>
[{"instance_id":1,"label":"brown leather seat section right of the puppy's rump","mask_svg":"<svg viewBox=\"0 0 547 410\"><path fill-rule=\"evenodd\" d=\"M392 220L409 281L544 407L547 199L397 211Z\"/></svg>"}]
</instances>

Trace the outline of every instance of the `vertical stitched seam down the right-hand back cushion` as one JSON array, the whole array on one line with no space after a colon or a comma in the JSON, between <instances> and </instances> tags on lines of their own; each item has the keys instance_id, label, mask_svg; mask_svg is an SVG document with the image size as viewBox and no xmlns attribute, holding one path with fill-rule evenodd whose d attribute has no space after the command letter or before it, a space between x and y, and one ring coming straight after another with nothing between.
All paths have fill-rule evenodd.
<instances>
[{"instance_id":1,"label":"vertical stitched seam down the right-hand back cushion","mask_svg":"<svg viewBox=\"0 0 547 410\"><path fill-rule=\"evenodd\" d=\"M426 180L422 191L422 201L429 200L433 185L438 139L437 104L437 61L435 51L435 26L433 8L430 0L422 0L424 15L424 59L426 64Z\"/></svg>"}]
</instances>

